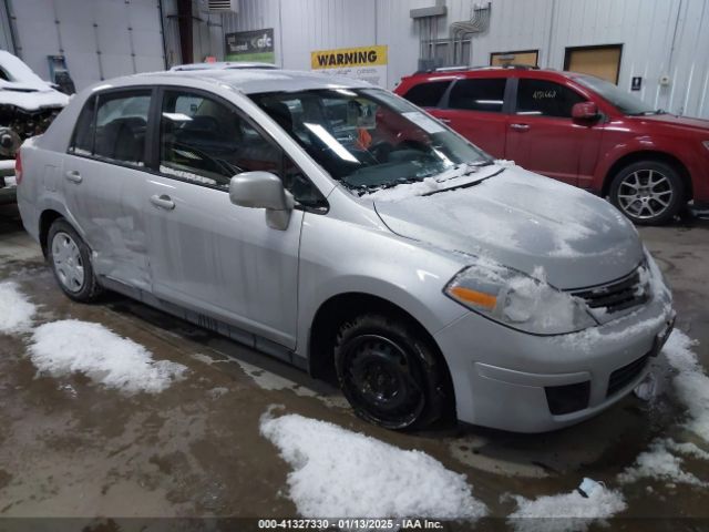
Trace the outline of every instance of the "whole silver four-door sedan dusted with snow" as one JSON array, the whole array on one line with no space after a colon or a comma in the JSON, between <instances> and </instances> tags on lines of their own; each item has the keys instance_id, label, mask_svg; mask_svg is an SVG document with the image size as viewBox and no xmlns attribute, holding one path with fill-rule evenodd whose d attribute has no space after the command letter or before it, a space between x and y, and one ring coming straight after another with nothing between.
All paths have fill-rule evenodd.
<instances>
[{"instance_id":1,"label":"whole silver four-door sedan dusted with snow","mask_svg":"<svg viewBox=\"0 0 709 532\"><path fill-rule=\"evenodd\" d=\"M137 298L337 378L392 429L536 432L631 390L674 321L634 226L369 84L134 75L83 91L17 161L71 298Z\"/></svg>"}]
</instances>

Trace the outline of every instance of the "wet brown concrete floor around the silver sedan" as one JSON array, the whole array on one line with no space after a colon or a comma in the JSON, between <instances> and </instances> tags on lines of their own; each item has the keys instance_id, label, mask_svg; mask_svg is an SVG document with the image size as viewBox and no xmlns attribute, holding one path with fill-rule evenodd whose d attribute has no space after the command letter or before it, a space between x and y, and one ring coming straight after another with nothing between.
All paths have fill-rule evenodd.
<instances>
[{"instance_id":1,"label":"wet brown concrete floor around the silver sedan","mask_svg":"<svg viewBox=\"0 0 709 532\"><path fill-rule=\"evenodd\" d=\"M553 433L397 433L372 427L351 413L335 388L209 331L117 295L96 305L70 301L17 212L0 208L0 280L17 280L40 306L38 323L96 321L145 346L154 358L188 368L184 380L161 393L126 396L82 375L38 375L27 355L29 334L0 335L0 518L297 515L286 497L290 468L258 430L273 405L431 454L466 474L494 516L515 509L505 493L565 493L584 477L614 483L658 436L709 450L679 426L684 409L661 360L655 362L660 391L651 401L629 396ZM701 341L696 352L709 367L709 222L640 233L672 286L677 327ZM687 458L685 469L709 480L707 461ZM624 485L623 492L624 516L705 518L685 524L709 526L707 490L647 481Z\"/></svg>"}]
</instances>

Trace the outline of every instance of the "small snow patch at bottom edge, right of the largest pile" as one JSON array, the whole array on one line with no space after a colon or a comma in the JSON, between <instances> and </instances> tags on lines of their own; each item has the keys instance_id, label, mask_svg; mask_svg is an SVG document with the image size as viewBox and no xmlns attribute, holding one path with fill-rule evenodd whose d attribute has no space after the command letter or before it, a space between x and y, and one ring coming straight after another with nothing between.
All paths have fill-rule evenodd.
<instances>
[{"instance_id":1,"label":"small snow patch at bottom edge, right of the largest pile","mask_svg":"<svg viewBox=\"0 0 709 532\"><path fill-rule=\"evenodd\" d=\"M525 499L515 495L517 510L507 522L522 532L585 531L595 520L605 520L627 508L619 491L599 485L588 498L578 491Z\"/></svg>"}]
</instances>

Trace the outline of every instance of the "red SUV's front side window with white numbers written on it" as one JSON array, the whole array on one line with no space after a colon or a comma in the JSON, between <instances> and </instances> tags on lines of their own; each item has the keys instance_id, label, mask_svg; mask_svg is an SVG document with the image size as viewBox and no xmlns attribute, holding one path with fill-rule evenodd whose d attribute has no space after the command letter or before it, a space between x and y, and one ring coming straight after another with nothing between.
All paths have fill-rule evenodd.
<instances>
[{"instance_id":1,"label":"red SUV's front side window with white numbers written on it","mask_svg":"<svg viewBox=\"0 0 709 532\"><path fill-rule=\"evenodd\" d=\"M571 119L572 108L583 101L576 91L553 81L521 79L516 114Z\"/></svg>"}]
</instances>

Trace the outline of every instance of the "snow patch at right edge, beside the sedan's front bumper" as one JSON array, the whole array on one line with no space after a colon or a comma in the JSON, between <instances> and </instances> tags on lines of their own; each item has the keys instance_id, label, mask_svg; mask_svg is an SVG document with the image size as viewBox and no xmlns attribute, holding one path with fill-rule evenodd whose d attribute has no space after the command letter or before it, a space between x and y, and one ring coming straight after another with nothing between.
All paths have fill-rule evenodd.
<instances>
[{"instance_id":1,"label":"snow patch at right edge, beside the sedan's front bumper","mask_svg":"<svg viewBox=\"0 0 709 532\"><path fill-rule=\"evenodd\" d=\"M709 377L703 372L691 347L697 342L675 329L662 348L669 365L677 371L675 390L687 407L685 426L709 442Z\"/></svg>"}]
</instances>

